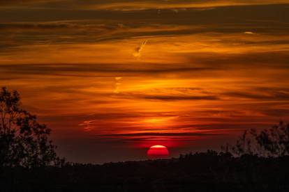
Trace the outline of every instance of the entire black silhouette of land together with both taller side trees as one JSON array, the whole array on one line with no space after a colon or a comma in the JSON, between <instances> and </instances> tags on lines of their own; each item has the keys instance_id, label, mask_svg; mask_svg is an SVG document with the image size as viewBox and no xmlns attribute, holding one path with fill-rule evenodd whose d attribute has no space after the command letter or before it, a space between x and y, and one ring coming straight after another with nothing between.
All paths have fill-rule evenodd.
<instances>
[{"instance_id":1,"label":"entire black silhouette of land together with both taller side trees","mask_svg":"<svg viewBox=\"0 0 289 192\"><path fill-rule=\"evenodd\" d=\"M0 92L0 191L289 191L289 125L244 131L223 152L179 158L69 163L57 156L50 129Z\"/></svg>"}]
</instances>

